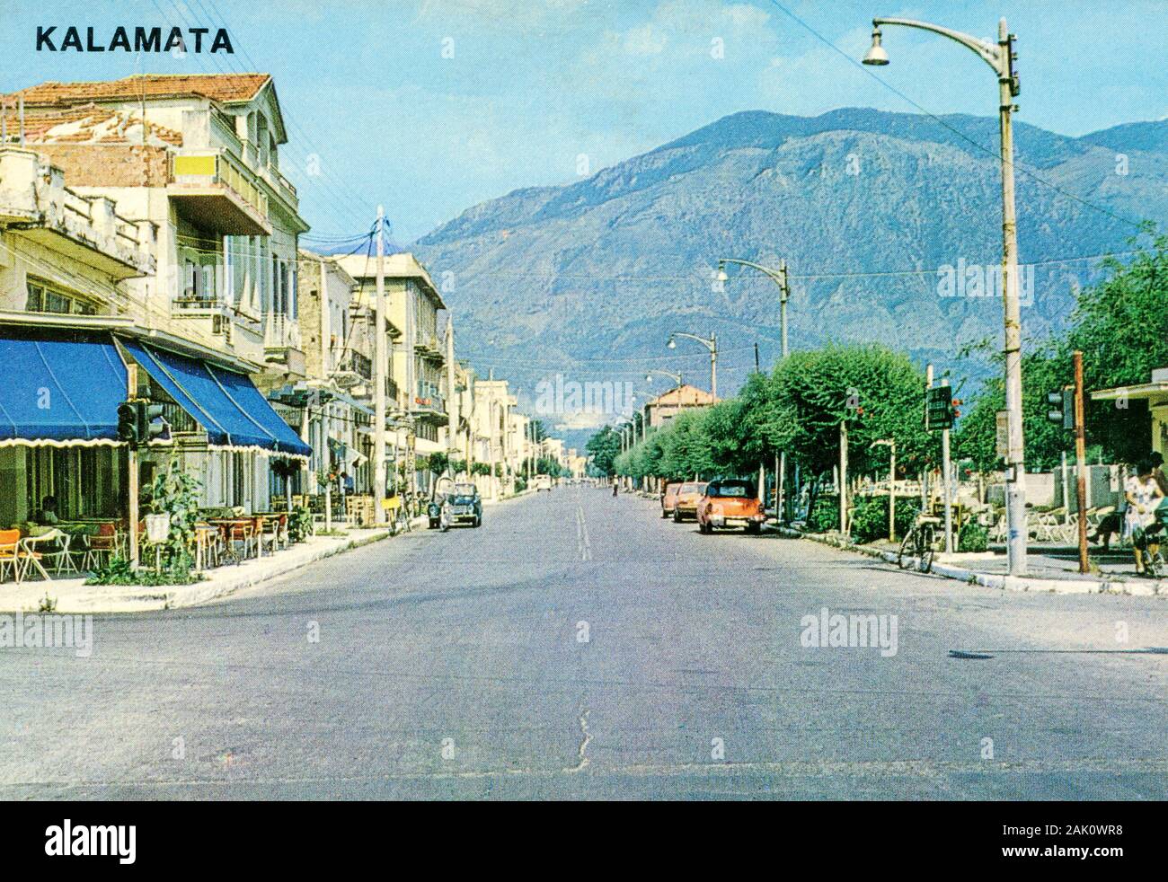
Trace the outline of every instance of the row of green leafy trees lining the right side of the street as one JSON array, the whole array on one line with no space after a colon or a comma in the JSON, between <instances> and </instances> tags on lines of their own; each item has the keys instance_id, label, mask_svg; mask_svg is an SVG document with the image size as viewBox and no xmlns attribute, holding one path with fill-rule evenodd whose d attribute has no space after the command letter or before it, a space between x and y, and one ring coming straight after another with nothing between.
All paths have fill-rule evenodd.
<instances>
[{"instance_id":1,"label":"row of green leafy trees lining the right side of the street","mask_svg":"<svg viewBox=\"0 0 1168 882\"><path fill-rule=\"evenodd\" d=\"M1070 439L1045 415L1045 395L1072 382L1071 353L1084 353L1087 390L1147 382L1168 366L1168 237L1147 227L1134 254L1103 263L1104 278L1077 296L1068 332L1028 342L1023 359L1027 464L1055 466ZM992 352L994 341L972 349ZM1000 355L994 355L999 360ZM878 345L829 345L792 353L771 374L752 375L737 396L683 411L623 451L620 432L605 426L588 443L593 468L632 478L749 475L785 451L805 474L839 461L841 424L849 471L885 473L895 439L897 472L919 474L940 463L939 435L923 424L924 371L908 355ZM1089 402L1086 431L1094 458L1134 461L1148 450L1149 415L1138 402ZM1001 371L982 386L954 433L954 458L979 472L1001 467L995 414L1004 408Z\"/></svg>"}]
</instances>

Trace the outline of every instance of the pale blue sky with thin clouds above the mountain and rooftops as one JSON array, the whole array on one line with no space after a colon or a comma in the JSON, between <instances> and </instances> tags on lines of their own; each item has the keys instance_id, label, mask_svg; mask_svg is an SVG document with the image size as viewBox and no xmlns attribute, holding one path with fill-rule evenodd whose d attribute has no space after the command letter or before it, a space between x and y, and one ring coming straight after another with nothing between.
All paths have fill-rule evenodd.
<instances>
[{"instance_id":1,"label":"pale blue sky with thin clouds above the mountain and rooftops","mask_svg":"<svg viewBox=\"0 0 1168 882\"><path fill-rule=\"evenodd\" d=\"M816 34L858 58L872 15L990 36L1002 13L1018 35L1020 119L1083 134L1168 116L1162 0L0 0L0 91L269 71L290 121L284 171L314 232L364 231L382 202L406 243L482 200L573 180L582 154L596 172L736 111L911 112ZM37 25L106 39L117 25L225 25L236 54L39 54ZM931 112L996 112L993 75L972 53L905 29L885 46L892 64L877 76Z\"/></svg>"}]
</instances>

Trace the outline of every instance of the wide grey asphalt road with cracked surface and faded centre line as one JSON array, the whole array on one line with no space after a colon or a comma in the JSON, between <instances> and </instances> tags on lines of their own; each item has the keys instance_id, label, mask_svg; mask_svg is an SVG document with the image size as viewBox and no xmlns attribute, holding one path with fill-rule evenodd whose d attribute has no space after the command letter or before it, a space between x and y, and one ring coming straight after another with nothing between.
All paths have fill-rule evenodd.
<instances>
[{"instance_id":1,"label":"wide grey asphalt road with cracked surface and faded centre line","mask_svg":"<svg viewBox=\"0 0 1168 882\"><path fill-rule=\"evenodd\" d=\"M896 653L804 646L825 606L896 616ZM1163 799L1168 655L1117 651L1166 613L562 487L99 617L88 659L0 651L0 798Z\"/></svg>"}]
</instances>

